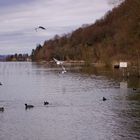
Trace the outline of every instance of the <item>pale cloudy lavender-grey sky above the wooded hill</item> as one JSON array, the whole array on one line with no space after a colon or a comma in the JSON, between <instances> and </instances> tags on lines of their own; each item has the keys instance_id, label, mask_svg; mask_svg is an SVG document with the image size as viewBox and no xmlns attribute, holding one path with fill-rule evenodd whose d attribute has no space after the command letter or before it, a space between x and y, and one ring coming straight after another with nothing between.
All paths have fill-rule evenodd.
<instances>
[{"instance_id":1,"label":"pale cloudy lavender-grey sky above the wooded hill","mask_svg":"<svg viewBox=\"0 0 140 140\"><path fill-rule=\"evenodd\" d=\"M0 0L0 55L28 53L56 34L102 18L108 0ZM43 26L46 30L35 28Z\"/></svg>"}]
</instances>

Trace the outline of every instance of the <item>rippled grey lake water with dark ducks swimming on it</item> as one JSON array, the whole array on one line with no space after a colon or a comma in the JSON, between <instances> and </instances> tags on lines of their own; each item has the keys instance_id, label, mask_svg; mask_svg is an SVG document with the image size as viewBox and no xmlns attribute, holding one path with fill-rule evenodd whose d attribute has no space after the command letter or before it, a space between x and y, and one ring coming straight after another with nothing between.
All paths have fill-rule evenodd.
<instances>
[{"instance_id":1,"label":"rippled grey lake water with dark ducks swimming on it","mask_svg":"<svg viewBox=\"0 0 140 140\"><path fill-rule=\"evenodd\" d=\"M131 81L139 86L138 79L1 62L0 140L139 140L140 91Z\"/></svg>"}]
</instances>

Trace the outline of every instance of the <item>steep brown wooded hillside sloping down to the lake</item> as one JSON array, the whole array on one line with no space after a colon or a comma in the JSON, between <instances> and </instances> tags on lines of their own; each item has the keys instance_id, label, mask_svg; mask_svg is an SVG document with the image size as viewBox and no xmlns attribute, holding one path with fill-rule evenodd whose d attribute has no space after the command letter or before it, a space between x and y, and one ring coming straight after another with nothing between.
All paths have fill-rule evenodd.
<instances>
[{"instance_id":1,"label":"steep brown wooded hillside sloping down to the lake","mask_svg":"<svg viewBox=\"0 0 140 140\"><path fill-rule=\"evenodd\" d=\"M34 61L53 57L89 63L137 63L140 59L140 0L125 0L94 24L84 25L62 37L56 35L32 51Z\"/></svg>"}]
</instances>

